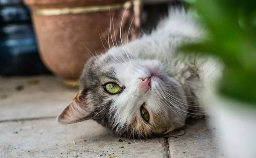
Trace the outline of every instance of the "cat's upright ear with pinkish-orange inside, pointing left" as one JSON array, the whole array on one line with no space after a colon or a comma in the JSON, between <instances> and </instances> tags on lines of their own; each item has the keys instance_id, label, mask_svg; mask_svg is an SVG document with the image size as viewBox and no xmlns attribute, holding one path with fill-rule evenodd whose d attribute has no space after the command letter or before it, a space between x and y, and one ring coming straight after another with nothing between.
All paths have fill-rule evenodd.
<instances>
[{"instance_id":1,"label":"cat's upright ear with pinkish-orange inside, pointing left","mask_svg":"<svg viewBox=\"0 0 256 158\"><path fill-rule=\"evenodd\" d=\"M77 93L72 102L58 115L59 124L72 124L89 118L90 110L87 108L86 96Z\"/></svg>"}]
</instances>

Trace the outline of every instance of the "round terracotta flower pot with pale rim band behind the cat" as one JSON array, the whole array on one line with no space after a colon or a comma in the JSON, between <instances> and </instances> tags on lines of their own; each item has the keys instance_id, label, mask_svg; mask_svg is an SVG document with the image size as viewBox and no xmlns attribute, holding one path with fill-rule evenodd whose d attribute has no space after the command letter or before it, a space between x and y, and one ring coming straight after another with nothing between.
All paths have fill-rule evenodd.
<instances>
[{"instance_id":1,"label":"round terracotta flower pot with pale rim band behind the cat","mask_svg":"<svg viewBox=\"0 0 256 158\"><path fill-rule=\"evenodd\" d=\"M140 1L24 0L24 3L32 10L44 64L66 83L79 78L91 56L120 43L120 28L124 42L127 37L132 40L140 34Z\"/></svg>"}]
</instances>

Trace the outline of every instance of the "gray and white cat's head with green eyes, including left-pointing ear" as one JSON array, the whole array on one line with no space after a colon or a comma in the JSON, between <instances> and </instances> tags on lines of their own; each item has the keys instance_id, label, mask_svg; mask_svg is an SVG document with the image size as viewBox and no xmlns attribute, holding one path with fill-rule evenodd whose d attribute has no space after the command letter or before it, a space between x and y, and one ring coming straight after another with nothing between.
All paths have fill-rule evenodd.
<instances>
[{"instance_id":1,"label":"gray and white cat's head with green eyes, including left-pointing ear","mask_svg":"<svg viewBox=\"0 0 256 158\"><path fill-rule=\"evenodd\" d=\"M59 123L93 119L127 137L168 135L184 125L185 93L159 61L113 48L87 62L79 83L81 91Z\"/></svg>"}]
</instances>

